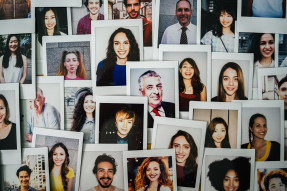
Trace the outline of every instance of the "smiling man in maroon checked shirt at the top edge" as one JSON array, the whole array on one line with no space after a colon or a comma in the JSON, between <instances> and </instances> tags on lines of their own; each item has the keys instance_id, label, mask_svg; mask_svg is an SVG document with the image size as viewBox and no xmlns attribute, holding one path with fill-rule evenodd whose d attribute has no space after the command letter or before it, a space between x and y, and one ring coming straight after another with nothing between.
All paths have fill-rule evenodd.
<instances>
[{"instance_id":1,"label":"smiling man in maroon checked shirt at the top edge","mask_svg":"<svg viewBox=\"0 0 287 191\"><path fill-rule=\"evenodd\" d=\"M91 34L91 21L104 20L104 15L99 13L103 0L85 0L84 4L89 14L81 18L78 22L77 34Z\"/></svg>"}]
</instances>

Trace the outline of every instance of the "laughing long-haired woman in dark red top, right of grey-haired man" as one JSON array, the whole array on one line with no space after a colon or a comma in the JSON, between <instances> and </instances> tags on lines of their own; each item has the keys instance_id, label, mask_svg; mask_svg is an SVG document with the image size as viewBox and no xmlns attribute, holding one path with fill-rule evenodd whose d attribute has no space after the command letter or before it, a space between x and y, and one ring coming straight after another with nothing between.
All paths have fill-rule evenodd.
<instances>
[{"instance_id":1,"label":"laughing long-haired woman in dark red top, right of grey-haired man","mask_svg":"<svg viewBox=\"0 0 287 191\"><path fill-rule=\"evenodd\" d=\"M188 111L189 101L206 101L206 87L201 82L200 71L192 58L179 65L179 110Z\"/></svg>"}]
</instances>

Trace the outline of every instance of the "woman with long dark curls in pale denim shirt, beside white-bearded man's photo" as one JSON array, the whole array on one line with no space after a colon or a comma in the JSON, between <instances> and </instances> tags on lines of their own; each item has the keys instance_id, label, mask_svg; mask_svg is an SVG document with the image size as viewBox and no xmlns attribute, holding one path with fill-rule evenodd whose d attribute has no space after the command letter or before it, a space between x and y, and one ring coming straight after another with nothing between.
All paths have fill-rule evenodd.
<instances>
[{"instance_id":1,"label":"woman with long dark curls in pale denim shirt, beside white-bearded man's photo","mask_svg":"<svg viewBox=\"0 0 287 191\"><path fill-rule=\"evenodd\" d=\"M91 89L84 90L73 112L72 131L84 132L84 143L95 143L95 109Z\"/></svg>"}]
</instances>

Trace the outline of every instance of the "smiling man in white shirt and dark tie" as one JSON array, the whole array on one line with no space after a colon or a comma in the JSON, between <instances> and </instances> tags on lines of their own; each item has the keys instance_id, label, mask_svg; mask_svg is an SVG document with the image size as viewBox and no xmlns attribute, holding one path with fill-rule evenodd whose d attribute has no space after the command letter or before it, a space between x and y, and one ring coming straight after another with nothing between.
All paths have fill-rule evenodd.
<instances>
[{"instance_id":1,"label":"smiling man in white shirt and dark tie","mask_svg":"<svg viewBox=\"0 0 287 191\"><path fill-rule=\"evenodd\" d=\"M190 22L192 4L188 0L177 1L175 14L178 23L165 29L161 44L196 44L196 26Z\"/></svg>"}]
</instances>

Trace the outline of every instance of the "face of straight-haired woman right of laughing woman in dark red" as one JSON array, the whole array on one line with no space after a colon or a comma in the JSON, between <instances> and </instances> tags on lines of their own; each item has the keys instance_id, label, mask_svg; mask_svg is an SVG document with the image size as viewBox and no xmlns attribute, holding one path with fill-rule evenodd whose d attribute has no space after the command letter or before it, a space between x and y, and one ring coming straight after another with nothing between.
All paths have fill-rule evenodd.
<instances>
[{"instance_id":1,"label":"face of straight-haired woman right of laughing woman in dark red","mask_svg":"<svg viewBox=\"0 0 287 191\"><path fill-rule=\"evenodd\" d=\"M223 72L222 86L228 96L235 95L238 90L238 74L236 70L227 68Z\"/></svg>"}]
</instances>

